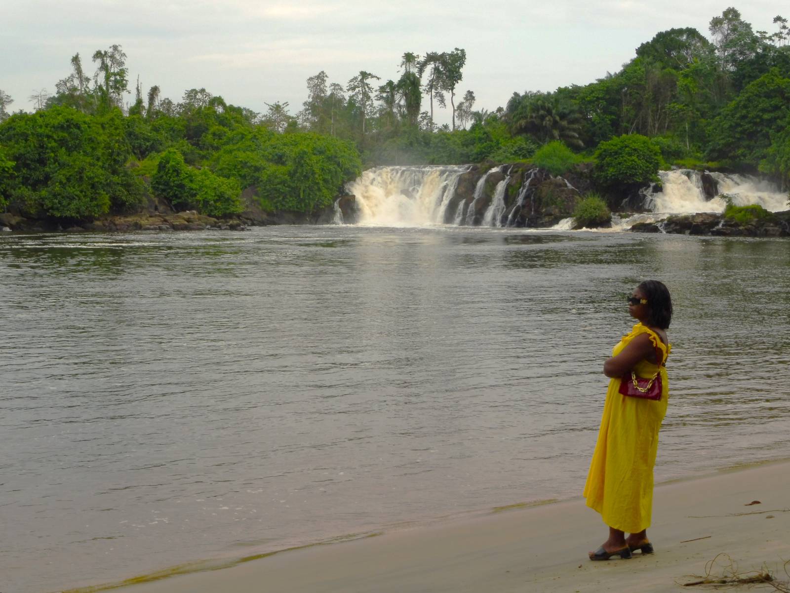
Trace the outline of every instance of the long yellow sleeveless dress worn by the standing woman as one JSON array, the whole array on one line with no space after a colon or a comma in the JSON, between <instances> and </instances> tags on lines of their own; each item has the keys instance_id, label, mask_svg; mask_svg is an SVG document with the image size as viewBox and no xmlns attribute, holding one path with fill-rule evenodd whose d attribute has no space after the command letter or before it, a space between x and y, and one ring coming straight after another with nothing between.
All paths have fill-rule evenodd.
<instances>
[{"instance_id":1,"label":"long yellow sleeveless dress worn by the standing woman","mask_svg":"<svg viewBox=\"0 0 790 593\"><path fill-rule=\"evenodd\" d=\"M643 333L648 334L657 351L662 353L662 362L666 362L672 347L665 346L656 332L641 323L623 336L611 355L618 355L627 343ZM618 391L621 379L609 381L598 441L585 484L587 506L600 512L609 527L627 533L638 533L650 527L653 512L653 465L658 430L669 400L667 370L664 366L658 368L663 384L658 401L623 396ZM656 365L642 360L634 371L638 377L653 377Z\"/></svg>"}]
</instances>

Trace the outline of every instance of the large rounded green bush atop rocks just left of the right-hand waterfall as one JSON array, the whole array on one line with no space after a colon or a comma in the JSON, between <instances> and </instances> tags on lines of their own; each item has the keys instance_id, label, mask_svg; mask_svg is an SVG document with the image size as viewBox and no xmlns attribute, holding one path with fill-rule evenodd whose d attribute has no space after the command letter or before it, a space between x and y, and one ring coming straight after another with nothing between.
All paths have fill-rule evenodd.
<instances>
[{"instance_id":1,"label":"large rounded green bush atop rocks just left of the right-hand waterfall","mask_svg":"<svg viewBox=\"0 0 790 593\"><path fill-rule=\"evenodd\" d=\"M593 175L610 190L657 181L658 171L664 164L656 143L641 134L624 134L601 142L595 159Z\"/></svg>"}]
</instances>

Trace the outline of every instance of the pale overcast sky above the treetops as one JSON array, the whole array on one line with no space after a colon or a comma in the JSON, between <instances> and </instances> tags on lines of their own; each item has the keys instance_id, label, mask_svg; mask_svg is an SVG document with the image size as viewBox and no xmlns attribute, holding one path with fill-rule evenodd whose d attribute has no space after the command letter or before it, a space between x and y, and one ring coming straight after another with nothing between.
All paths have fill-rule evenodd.
<instances>
[{"instance_id":1,"label":"pale overcast sky above the treetops","mask_svg":"<svg viewBox=\"0 0 790 593\"><path fill-rule=\"evenodd\" d=\"M396 79L401 54L466 50L459 94L476 108L504 106L513 91L551 91L616 72L640 43L673 27L705 36L727 2L664 0L3 0L0 89L14 111L28 96L70 73L80 53L89 73L97 49L118 43L128 56L130 88L159 84L178 102L205 87L228 103L265 111L288 101L295 114L305 79L321 70L345 84L366 69ZM790 17L784 2L735 4L754 30L773 32ZM130 96L134 100L134 96ZM425 103L423 102L423 106ZM449 116L448 116L449 117ZM448 121L437 117L438 121Z\"/></svg>"}]
</instances>

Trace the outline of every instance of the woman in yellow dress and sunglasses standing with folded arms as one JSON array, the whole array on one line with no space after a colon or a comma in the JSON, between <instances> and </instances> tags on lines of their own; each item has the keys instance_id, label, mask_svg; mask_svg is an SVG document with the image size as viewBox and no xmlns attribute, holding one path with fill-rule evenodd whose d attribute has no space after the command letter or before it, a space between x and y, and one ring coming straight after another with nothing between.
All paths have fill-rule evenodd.
<instances>
[{"instance_id":1,"label":"woman in yellow dress and sunglasses standing with folded arms","mask_svg":"<svg viewBox=\"0 0 790 593\"><path fill-rule=\"evenodd\" d=\"M657 280L645 280L628 299L628 312L639 323L604 362L604 374L611 381L585 485L587 506L600 512L609 526L609 539L589 553L590 560L630 558L635 550L653 553L653 544L647 539L653 509L653 464L669 397L664 364L670 351L666 329L672 321L672 299L667 287ZM660 400L620 394L620 383L623 377L630 380L631 371L645 378L660 373ZM627 538L626 533L630 534Z\"/></svg>"}]
</instances>

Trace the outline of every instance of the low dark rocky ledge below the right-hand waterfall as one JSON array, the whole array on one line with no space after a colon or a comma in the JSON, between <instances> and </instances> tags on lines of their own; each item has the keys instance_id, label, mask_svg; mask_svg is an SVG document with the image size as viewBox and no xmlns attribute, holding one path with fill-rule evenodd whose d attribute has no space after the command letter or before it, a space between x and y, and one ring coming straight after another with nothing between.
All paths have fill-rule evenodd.
<instances>
[{"instance_id":1,"label":"low dark rocky ledge below the right-hand waterfall","mask_svg":"<svg viewBox=\"0 0 790 593\"><path fill-rule=\"evenodd\" d=\"M788 237L790 210L772 212L761 220L739 222L721 214L700 212L669 216L655 223L636 223L630 229L637 233L671 233L674 235L712 235L715 237Z\"/></svg>"}]
</instances>

